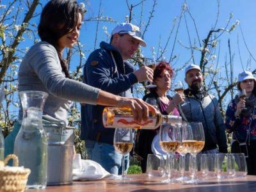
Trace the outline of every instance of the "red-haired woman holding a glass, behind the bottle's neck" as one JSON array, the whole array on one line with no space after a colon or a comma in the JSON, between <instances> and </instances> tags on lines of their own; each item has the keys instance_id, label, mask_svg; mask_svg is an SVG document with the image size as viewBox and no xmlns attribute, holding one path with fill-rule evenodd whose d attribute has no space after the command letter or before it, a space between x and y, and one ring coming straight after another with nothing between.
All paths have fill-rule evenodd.
<instances>
[{"instance_id":1,"label":"red-haired woman holding a glass, behind the bottle's neck","mask_svg":"<svg viewBox=\"0 0 256 192\"><path fill-rule=\"evenodd\" d=\"M173 69L170 64L161 61L154 70L153 82L156 84L156 88L150 88L150 93L143 97L143 100L147 98L155 99L157 102L157 108L163 115L179 115L177 106L184 100L184 93L177 93L174 97L167 95L172 85ZM135 152L141 157L141 170L146 172L147 168L147 156L152 154L151 144L156 136L157 130L140 130L137 132Z\"/></svg>"}]
</instances>

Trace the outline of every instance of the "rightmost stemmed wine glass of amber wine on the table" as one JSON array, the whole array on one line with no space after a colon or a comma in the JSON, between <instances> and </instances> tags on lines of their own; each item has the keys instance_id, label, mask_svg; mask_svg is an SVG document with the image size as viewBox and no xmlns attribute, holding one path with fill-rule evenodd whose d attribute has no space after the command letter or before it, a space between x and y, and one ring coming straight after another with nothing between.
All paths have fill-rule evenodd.
<instances>
[{"instance_id":1,"label":"rightmost stemmed wine glass of amber wine on the table","mask_svg":"<svg viewBox=\"0 0 256 192\"><path fill-rule=\"evenodd\" d=\"M187 126L184 126L183 128L187 129L186 131L188 132L188 135L186 138L182 138L182 146L184 147L184 150L192 156L191 180L185 182L194 184L200 182L200 180L196 178L196 154L204 148L204 127L201 122L188 122Z\"/></svg>"}]
</instances>

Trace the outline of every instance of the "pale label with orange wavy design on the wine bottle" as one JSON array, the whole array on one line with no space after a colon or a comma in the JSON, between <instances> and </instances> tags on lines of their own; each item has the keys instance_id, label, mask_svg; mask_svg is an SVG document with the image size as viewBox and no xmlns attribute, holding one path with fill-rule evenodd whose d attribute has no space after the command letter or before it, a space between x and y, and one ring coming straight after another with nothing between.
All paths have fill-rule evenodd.
<instances>
[{"instance_id":1,"label":"pale label with orange wavy design on the wine bottle","mask_svg":"<svg viewBox=\"0 0 256 192\"><path fill-rule=\"evenodd\" d=\"M113 120L114 121L111 127L118 127L118 128L132 127L134 129L141 129L141 127L143 127L143 129L154 129L154 127L156 126L156 118L148 118L146 122L144 121L137 122L131 117L116 116Z\"/></svg>"}]
</instances>

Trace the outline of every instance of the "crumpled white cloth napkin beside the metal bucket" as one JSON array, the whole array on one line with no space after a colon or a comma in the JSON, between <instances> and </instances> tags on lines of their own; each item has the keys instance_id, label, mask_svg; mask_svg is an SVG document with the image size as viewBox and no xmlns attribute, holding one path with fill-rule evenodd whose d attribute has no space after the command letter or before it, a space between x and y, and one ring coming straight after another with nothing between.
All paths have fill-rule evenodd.
<instances>
[{"instance_id":1,"label":"crumpled white cloth napkin beside the metal bucket","mask_svg":"<svg viewBox=\"0 0 256 192\"><path fill-rule=\"evenodd\" d=\"M95 161L81 159L81 154L74 156L73 180L118 179L119 177L119 175L110 174Z\"/></svg>"}]
</instances>

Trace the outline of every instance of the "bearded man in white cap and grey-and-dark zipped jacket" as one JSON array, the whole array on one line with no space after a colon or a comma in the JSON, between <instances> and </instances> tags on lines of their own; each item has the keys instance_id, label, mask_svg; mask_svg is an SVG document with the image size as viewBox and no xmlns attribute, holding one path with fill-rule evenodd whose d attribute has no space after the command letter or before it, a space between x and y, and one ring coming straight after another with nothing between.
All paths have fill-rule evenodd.
<instances>
[{"instance_id":1,"label":"bearded man in white cap and grey-and-dark zipped jacket","mask_svg":"<svg viewBox=\"0 0 256 192\"><path fill-rule=\"evenodd\" d=\"M227 153L225 124L220 113L218 100L204 91L204 76L198 65L191 64L185 70L188 89L184 90L185 100L182 111L188 122L202 122L205 133L203 153Z\"/></svg>"}]
</instances>

